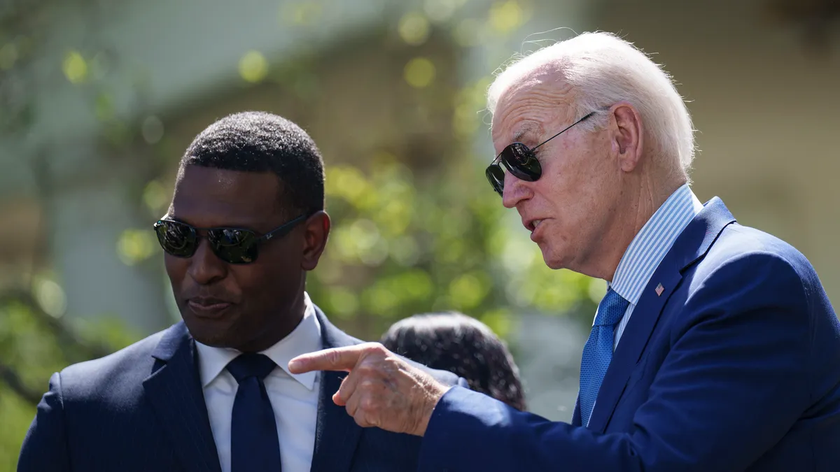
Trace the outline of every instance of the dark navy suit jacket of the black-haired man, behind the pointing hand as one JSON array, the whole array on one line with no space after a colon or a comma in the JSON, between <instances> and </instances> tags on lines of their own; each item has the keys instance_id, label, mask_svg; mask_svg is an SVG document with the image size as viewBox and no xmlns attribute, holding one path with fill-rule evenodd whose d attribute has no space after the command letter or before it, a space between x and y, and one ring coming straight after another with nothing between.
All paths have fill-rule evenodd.
<instances>
[{"instance_id":1,"label":"dark navy suit jacket of the black-haired man, behind the pointing hand","mask_svg":"<svg viewBox=\"0 0 840 472\"><path fill-rule=\"evenodd\" d=\"M361 342L316 312L325 348ZM53 375L18 472L219 472L196 362L195 342L178 323ZM466 385L455 375L432 372L449 385ZM333 403L345 375L323 372L312 472L416 469L421 438L363 429Z\"/></svg>"}]
</instances>

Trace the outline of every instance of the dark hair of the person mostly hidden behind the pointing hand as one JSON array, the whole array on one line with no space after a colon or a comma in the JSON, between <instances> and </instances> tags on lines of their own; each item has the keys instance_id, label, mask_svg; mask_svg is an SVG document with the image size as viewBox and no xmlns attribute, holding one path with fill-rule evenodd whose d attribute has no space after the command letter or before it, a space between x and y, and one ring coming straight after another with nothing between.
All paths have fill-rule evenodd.
<instances>
[{"instance_id":1,"label":"dark hair of the person mostly hidden behind the pointing hand","mask_svg":"<svg viewBox=\"0 0 840 472\"><path fill-rule=\"evenodd\" d=\"M394 323L381 343L432 369L459 375L473 391L526 408L519 368L507 345L475 318L459 312L414 315Z\"/></svg>"}]
</instances>

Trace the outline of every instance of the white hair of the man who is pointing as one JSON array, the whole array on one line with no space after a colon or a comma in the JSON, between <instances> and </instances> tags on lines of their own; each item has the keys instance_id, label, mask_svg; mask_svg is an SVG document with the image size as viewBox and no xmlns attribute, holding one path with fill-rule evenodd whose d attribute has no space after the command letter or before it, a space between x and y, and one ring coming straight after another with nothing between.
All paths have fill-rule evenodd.
<instances>
[{"instance_id":1,"label":"white hair of the man who is pointing","mask_svg":"<svg viewBox=\"0 0 840 472\"><path fill-rule=\"evenodd\" d=\"M517 79L537 69L558 71L572 87L577 118L616 102L633 104L646 138L664 156L679 160L687 176L695 154L691 115L671 76L632 43L615 34L585 33L514 58L487 91L490 113ZM603 123L588 121L580 124L592 129Z\"/></svg>"}]
</instances>

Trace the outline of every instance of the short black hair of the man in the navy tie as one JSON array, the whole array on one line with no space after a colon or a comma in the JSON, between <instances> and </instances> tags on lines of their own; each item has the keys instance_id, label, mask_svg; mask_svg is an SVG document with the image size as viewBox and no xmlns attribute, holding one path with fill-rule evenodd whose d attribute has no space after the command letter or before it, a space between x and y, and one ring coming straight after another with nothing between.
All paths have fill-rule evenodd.
<instances>
[{"instance_id":1,"label":"short black hair of the man in the navy tie","mask_svg":"<svg viewBox=\"0 0 840 472\"><path fill-rule=\"evenodd\" d=\"M186 165L273 172L287 204L307 213L323 210L318 146L300 126L272 113L234 113L211 124L186 148Z\"/></svg>"}]
</instances>

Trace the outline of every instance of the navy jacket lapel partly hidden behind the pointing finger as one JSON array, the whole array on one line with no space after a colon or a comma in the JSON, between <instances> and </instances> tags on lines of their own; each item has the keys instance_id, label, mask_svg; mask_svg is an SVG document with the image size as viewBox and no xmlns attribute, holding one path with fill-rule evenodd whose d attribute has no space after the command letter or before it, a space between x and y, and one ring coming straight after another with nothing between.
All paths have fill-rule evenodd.
<instances>
[{"instance_id":1,"label":"navy jacket lapel partly hidden behind the pointing finger","mask_svg":"<svg viewBox=\"0 0 840 472\"><path fill-rule=\"evenodd\" d=\"M339 328L329 323L327 317L315 307L324 349L340 348L358 344ZM315 450L312 454L311 472L346 472L353 462L356 446L362 428L347 414L344 406L333 402L333 394L339 391L346 372L323 371L321 394L318 399L318 424L315 429Z\"/></svg>"}]
</instances>

